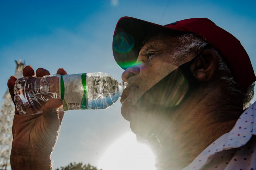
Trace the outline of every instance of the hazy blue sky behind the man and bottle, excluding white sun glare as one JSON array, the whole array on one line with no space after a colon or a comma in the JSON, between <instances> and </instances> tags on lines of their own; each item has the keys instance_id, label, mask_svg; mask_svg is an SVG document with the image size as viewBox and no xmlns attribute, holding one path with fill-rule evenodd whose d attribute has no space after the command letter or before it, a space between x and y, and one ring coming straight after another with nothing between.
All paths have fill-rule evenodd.
<instances>
[{"instance_id":1,"label":"hazy blue sky behind the man and bottle, excluding white sun glare","mask_svg":"<svg viewBox=\"0 0 256 170\"><path fill-rule=\"evenodd\" d=\"M0 0L0 97L19 58L52 74L62 67L69 74L107 72L121 81L112 36L123 16L162 25L209 18L241 41L256 70L255 7L249 0ZM130 131L120 107L118 101L103 111L68 111L53 154L55 168L72 161L97 165L104 150Z\"/></svg>"}]
</instances>

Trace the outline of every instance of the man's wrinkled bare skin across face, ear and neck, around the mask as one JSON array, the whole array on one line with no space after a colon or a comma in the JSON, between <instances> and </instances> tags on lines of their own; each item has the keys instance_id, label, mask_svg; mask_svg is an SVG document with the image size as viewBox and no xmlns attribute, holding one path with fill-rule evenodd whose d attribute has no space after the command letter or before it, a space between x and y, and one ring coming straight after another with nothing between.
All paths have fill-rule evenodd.
<instances>
[{"instance_id":1,"label":"man's wrinkled bare skin across face, ear and neck, around the mask","mask_svg":"<svg viewBox=\"0 0 256 170\"><path fill-rule=\"evenodd\" d=\"M215 49L205 49L190 64L192 76L199 82L195 89L184 91L179 85L172 89L173 86L166 84L171 89L168 92L162 88L150 91L166 75L198 54L191 52L184 60L177 58L181 62L176 63L172 57L179 45L175 37L151 38L140 50L137 64L122 74L129 86L121 98L121 113L130 122L131 130L142 139L151 141L157 136L162 149L151 148L158 148L156 167L161 170L186 167L210 143L229 132L243 111L240 101L227 98L219 80L220 56ZM174 106L159 103L172 103L175 96L185 97ZM224 119L223 115L232 116Z\"/></svg>"}]
</instances>

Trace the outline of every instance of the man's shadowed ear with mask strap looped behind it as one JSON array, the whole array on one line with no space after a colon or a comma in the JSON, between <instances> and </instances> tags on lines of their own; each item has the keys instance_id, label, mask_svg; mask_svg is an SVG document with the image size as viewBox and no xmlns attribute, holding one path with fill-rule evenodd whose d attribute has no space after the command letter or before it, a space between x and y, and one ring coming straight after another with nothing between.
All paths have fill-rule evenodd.
<instances>
[{"instance_id":1,"label":"man's shadowed ear with mask strap looped behind it","mask_svg":"<svg viewBox=\"0 0 256 170\"><path fill-rule=\"evenodd\" d=\"M214 49L206 49L191 64L191 72L199 82L210 81L217 72L219 65L219 53Z\"/></svg>"}]
</instances>

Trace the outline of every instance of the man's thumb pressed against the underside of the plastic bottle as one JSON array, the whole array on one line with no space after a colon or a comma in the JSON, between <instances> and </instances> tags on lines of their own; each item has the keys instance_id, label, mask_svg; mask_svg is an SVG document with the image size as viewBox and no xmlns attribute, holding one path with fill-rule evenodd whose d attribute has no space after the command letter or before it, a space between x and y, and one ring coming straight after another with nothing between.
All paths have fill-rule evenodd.
<instances>
[{"instance_id":1,"label":"man's thumb pressed against the underside of the plastic bottle","mask_svg":"<svg viewBox=\"0 0 256 170\"><path fill-rule=\"evenodd\" d=\"M62 100L51 99L44 105L43 117L46 124L54 124L59 126L60 120L58 109L62 107Z\"/></svg>"}]
</instances>

